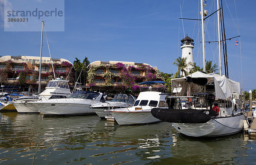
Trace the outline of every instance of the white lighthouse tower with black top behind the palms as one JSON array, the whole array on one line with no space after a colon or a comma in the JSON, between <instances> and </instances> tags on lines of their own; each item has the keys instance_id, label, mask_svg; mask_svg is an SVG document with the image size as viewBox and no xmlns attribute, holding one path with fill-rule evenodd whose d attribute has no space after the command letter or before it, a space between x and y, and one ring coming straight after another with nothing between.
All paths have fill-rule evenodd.
<instances>
[{"instance_id":1,"label":"white lighthouse tower with black top behind the palms","mask_svg":"<svg viewBox=\"0 0 256 165\"><path fill-rule=\"evenodd\" d=\"M193 60L193 48L194 48L194 40L188 36L183 38L180 44L180 48L182 49L182 58L186 57L186 63L188 64L187 68L185 68L185 71L189 72L193 68L194 60ZM192 65L191 65L192 64ZM180 73L182 74L182 73ZM183 73L182 75L185 75Z\"/></svg>"}]
</instances>

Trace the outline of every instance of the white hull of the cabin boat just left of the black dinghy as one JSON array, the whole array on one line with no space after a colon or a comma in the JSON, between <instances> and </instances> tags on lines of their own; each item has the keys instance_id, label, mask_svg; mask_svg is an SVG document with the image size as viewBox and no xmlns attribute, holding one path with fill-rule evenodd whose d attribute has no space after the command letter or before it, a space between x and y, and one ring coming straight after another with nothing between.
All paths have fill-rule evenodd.
<instances>
[{"instance_id":1,"label":"white hull of the cabin boat just left of the black dinghy","mask_svg":"<svg viewBox=\"0 0 256 165\"><path fill-rule=\"evenodd\" d=\"M119 125L135 125L147 124L152 122L160 122L152 116L150 111L146 112L111 112L111 115L116 119Z\"/></svg>"}]
</instances>

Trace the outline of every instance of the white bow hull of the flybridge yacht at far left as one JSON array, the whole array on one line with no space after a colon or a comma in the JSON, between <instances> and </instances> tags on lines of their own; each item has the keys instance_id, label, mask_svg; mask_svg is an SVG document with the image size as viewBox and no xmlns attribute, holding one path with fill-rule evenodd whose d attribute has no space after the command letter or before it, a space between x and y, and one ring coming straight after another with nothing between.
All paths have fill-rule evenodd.
<instances>
[{"instance_id":1,"label":"white bow hull of the flybridge yacht at far left","mask_svg":"<svg viewBox=\"0 0 256 165\"><path fill-rule=\"evenodd\" d=\"M18 113L39 113L38 109L36 109L33 105L31 105L29 102L13 102L12 103Z\"/></svg>"}]
</instances>

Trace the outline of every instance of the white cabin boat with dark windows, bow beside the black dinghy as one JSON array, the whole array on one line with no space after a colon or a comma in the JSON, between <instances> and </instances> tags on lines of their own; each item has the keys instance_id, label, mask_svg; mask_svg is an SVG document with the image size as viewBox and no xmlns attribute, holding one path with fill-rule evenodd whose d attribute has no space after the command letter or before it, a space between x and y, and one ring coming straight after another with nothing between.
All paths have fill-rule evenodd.
<instances>
[{"instance_id":1,"label":"white cabin boat with dark windows, bow beside the black dinghy","mask_svg":"<svg viewBox=\"0 0 256 165\"><path fill-rule=\"evenodd\" d=\"M148 91L140 92L134 105L129 108L119 108L109 111L119 125L135 125L160 122L152 116L152 108L168 108L166 96L168 94L160 92L160 88L143 88Z\"/></svg>"}]
</instances>

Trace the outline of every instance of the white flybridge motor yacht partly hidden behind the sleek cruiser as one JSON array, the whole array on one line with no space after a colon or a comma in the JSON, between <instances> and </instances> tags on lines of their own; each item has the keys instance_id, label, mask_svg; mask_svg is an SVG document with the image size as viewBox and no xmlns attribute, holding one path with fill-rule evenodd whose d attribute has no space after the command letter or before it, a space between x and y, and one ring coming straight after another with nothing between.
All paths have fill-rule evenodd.
<instances>
[{"instance_id":1,"label":"white flybridge motor yacht partly hidden behind the sleek cruiser","mask_svg":"<svg viewBox=\"0 0 256 165\"><path fill-rule=\"evenodd\" d=\"M71 95L67 80L50 80L45 90L39 94L39 100L51 100L56 98L67 98ZM15 100L12 104L15 106L18 113L39 113L38 109L32 105L38 99L32 100Z\"/></svg>"}]
</instances>

